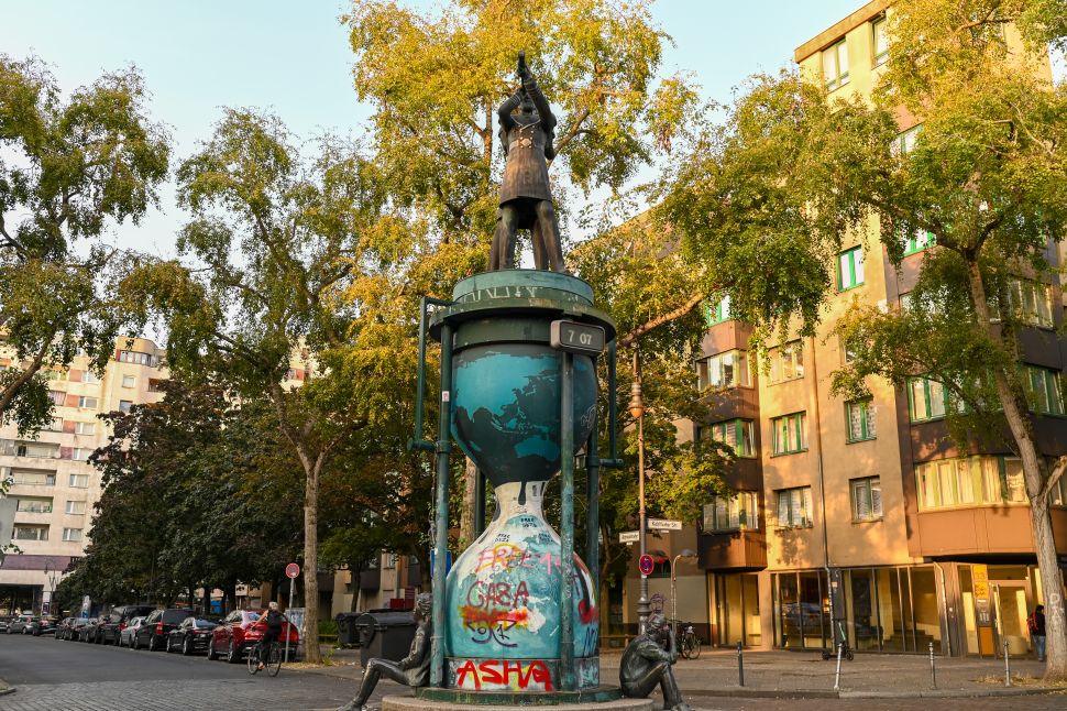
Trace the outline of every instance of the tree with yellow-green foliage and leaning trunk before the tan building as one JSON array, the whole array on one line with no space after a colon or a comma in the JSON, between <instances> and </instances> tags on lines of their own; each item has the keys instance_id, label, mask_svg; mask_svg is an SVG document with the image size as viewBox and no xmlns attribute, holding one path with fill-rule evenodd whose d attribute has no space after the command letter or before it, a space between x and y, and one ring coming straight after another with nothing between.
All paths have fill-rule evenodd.
<instances>
[{"instance_id":1,"label":"tree with yellow-green foliage and leaning trunk before the tan building","mask_svg":"<svg viewBox=\"0 0 1067 711\"><path fill-rule=\"evenodd\" d=\"M662 210L688 253L714 262L710 278L734 272L735 316L762 333L814 332L842 236L877 233L897 264L909 236L932 236L915 308L859 310L840 324L858 357L835 386L855 393L866 376L900 384L932 373L968 411L952 414L957 431L969 424L975 434L985 418L983 434L1007 434L1048 581L1046 679L1063 679L1067 626L1048 496L1067 460L1036 447L1018 367L1026 316L1010 295L1020 280L1047 280L1046 250L1067 219L1067 95L1042 76L1044 43L1064 40L1063 3L901 0L893 11L889 68L869 102L831 105L796 74L758 77L705 151L670 176ZM922 122L906 152L891 147L902 107Z\"/></svg>"}]
</instances>

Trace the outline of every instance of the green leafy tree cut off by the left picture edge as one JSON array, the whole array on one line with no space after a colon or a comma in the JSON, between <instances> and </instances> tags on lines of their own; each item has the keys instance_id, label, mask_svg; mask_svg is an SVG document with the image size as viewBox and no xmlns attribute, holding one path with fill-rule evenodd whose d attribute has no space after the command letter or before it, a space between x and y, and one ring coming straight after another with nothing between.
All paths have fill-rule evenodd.
<instances>
[{"instance_id":1,"label":"green leafy tree cut off by the left picture edge","mask_svg":"<svg viewBox=\"0 0 1067 711\"><path fill-rule=\"evenodd\" d=\"M129 254L102 238L144 217L167 174L169 140L145 98L127 69L64 101L38 59L0 55L0 333L14 354L0 370L0 423L21 433L51 418L42 369L81 350L102 371L116 338L141 326L118 297Z\"/></svg>"}]
</instances>

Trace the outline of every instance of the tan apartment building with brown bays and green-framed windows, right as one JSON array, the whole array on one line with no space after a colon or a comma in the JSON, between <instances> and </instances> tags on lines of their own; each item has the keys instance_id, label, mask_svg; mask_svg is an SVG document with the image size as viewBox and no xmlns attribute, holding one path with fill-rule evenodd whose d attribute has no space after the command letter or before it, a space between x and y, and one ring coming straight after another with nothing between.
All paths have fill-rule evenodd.
<instances>
[{"instance_id":1,"label":"tan apartment building with brown bays and green-framed windows, right","mask_svg":"<svg viewBox=\"0 0 1067 711\"><path fill-rule=\"evenodd\" d=\"M801 70L825 81L832 97L869 96L891 51L887 12L888 0L869 2L802 44L794 53ZM1050 80L1047 64L1044 70ZM921 127L901 114L906 151ZM877 236L877 223L867 229ZM839 624L860 650L926 653L932 645L945 655L991 656L1007 642L1012 654L1030 652L1025 619L1043 602L1045 582L1019 460L1007 449L959 449L936 381L916 378L898 390L872 380L871 396L859 402L831 394L832 373L848 358L829 336L833 324L856 300L906 304L930 247L927 236L916 236L898 271L877 239L867 249L858 238L846 243L822 331L772 349L766 371L747 352L750 327L730 318L728 299L707 308L697 374L714 391L714 406L692 436L735 447L728 483L737 496L707 506L700 532L659 545L666 560L695 538L706 580L678 571L678 594L688 601L679 615L703 623L713 644L818 649L834 644ZM1045 395L1036 436L1055 457L1067 453L1059 387L1067 342L1056 332L1064 295L1056 278L1020 282L1019 292L1032 316L1021 361ZM1057 548L1067 554L1060 484L1052 515ZM636 579L626 592L632 615Z\"/></svg>"}]
</instances>

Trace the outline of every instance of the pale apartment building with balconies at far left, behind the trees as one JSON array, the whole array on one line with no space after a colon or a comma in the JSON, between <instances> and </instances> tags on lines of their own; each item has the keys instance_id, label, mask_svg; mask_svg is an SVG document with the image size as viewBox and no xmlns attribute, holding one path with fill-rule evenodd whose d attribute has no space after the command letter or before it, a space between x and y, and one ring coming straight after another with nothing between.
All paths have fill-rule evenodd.
<instances>
[{"instance_id":1,"label":"pale apartment building with balconies at far left, behind the trees","mask_svg":"<svg viewBox=\"0 0 1067 711\"><path fill-rule=\"evenodd\" d=\"M12 356L0 343L0 370ZM12 543L21 550L0 564L0 613L50 611L52 591L88 544L100 499L100 472L86 461L110 434L98 415L157 402L167 376L163 350L142 338L120 338L100 376L84 356L42 374L55 404L50 426L34 439L0 427L0 477L15 501Z\"/></svg>"}]
</instances>

